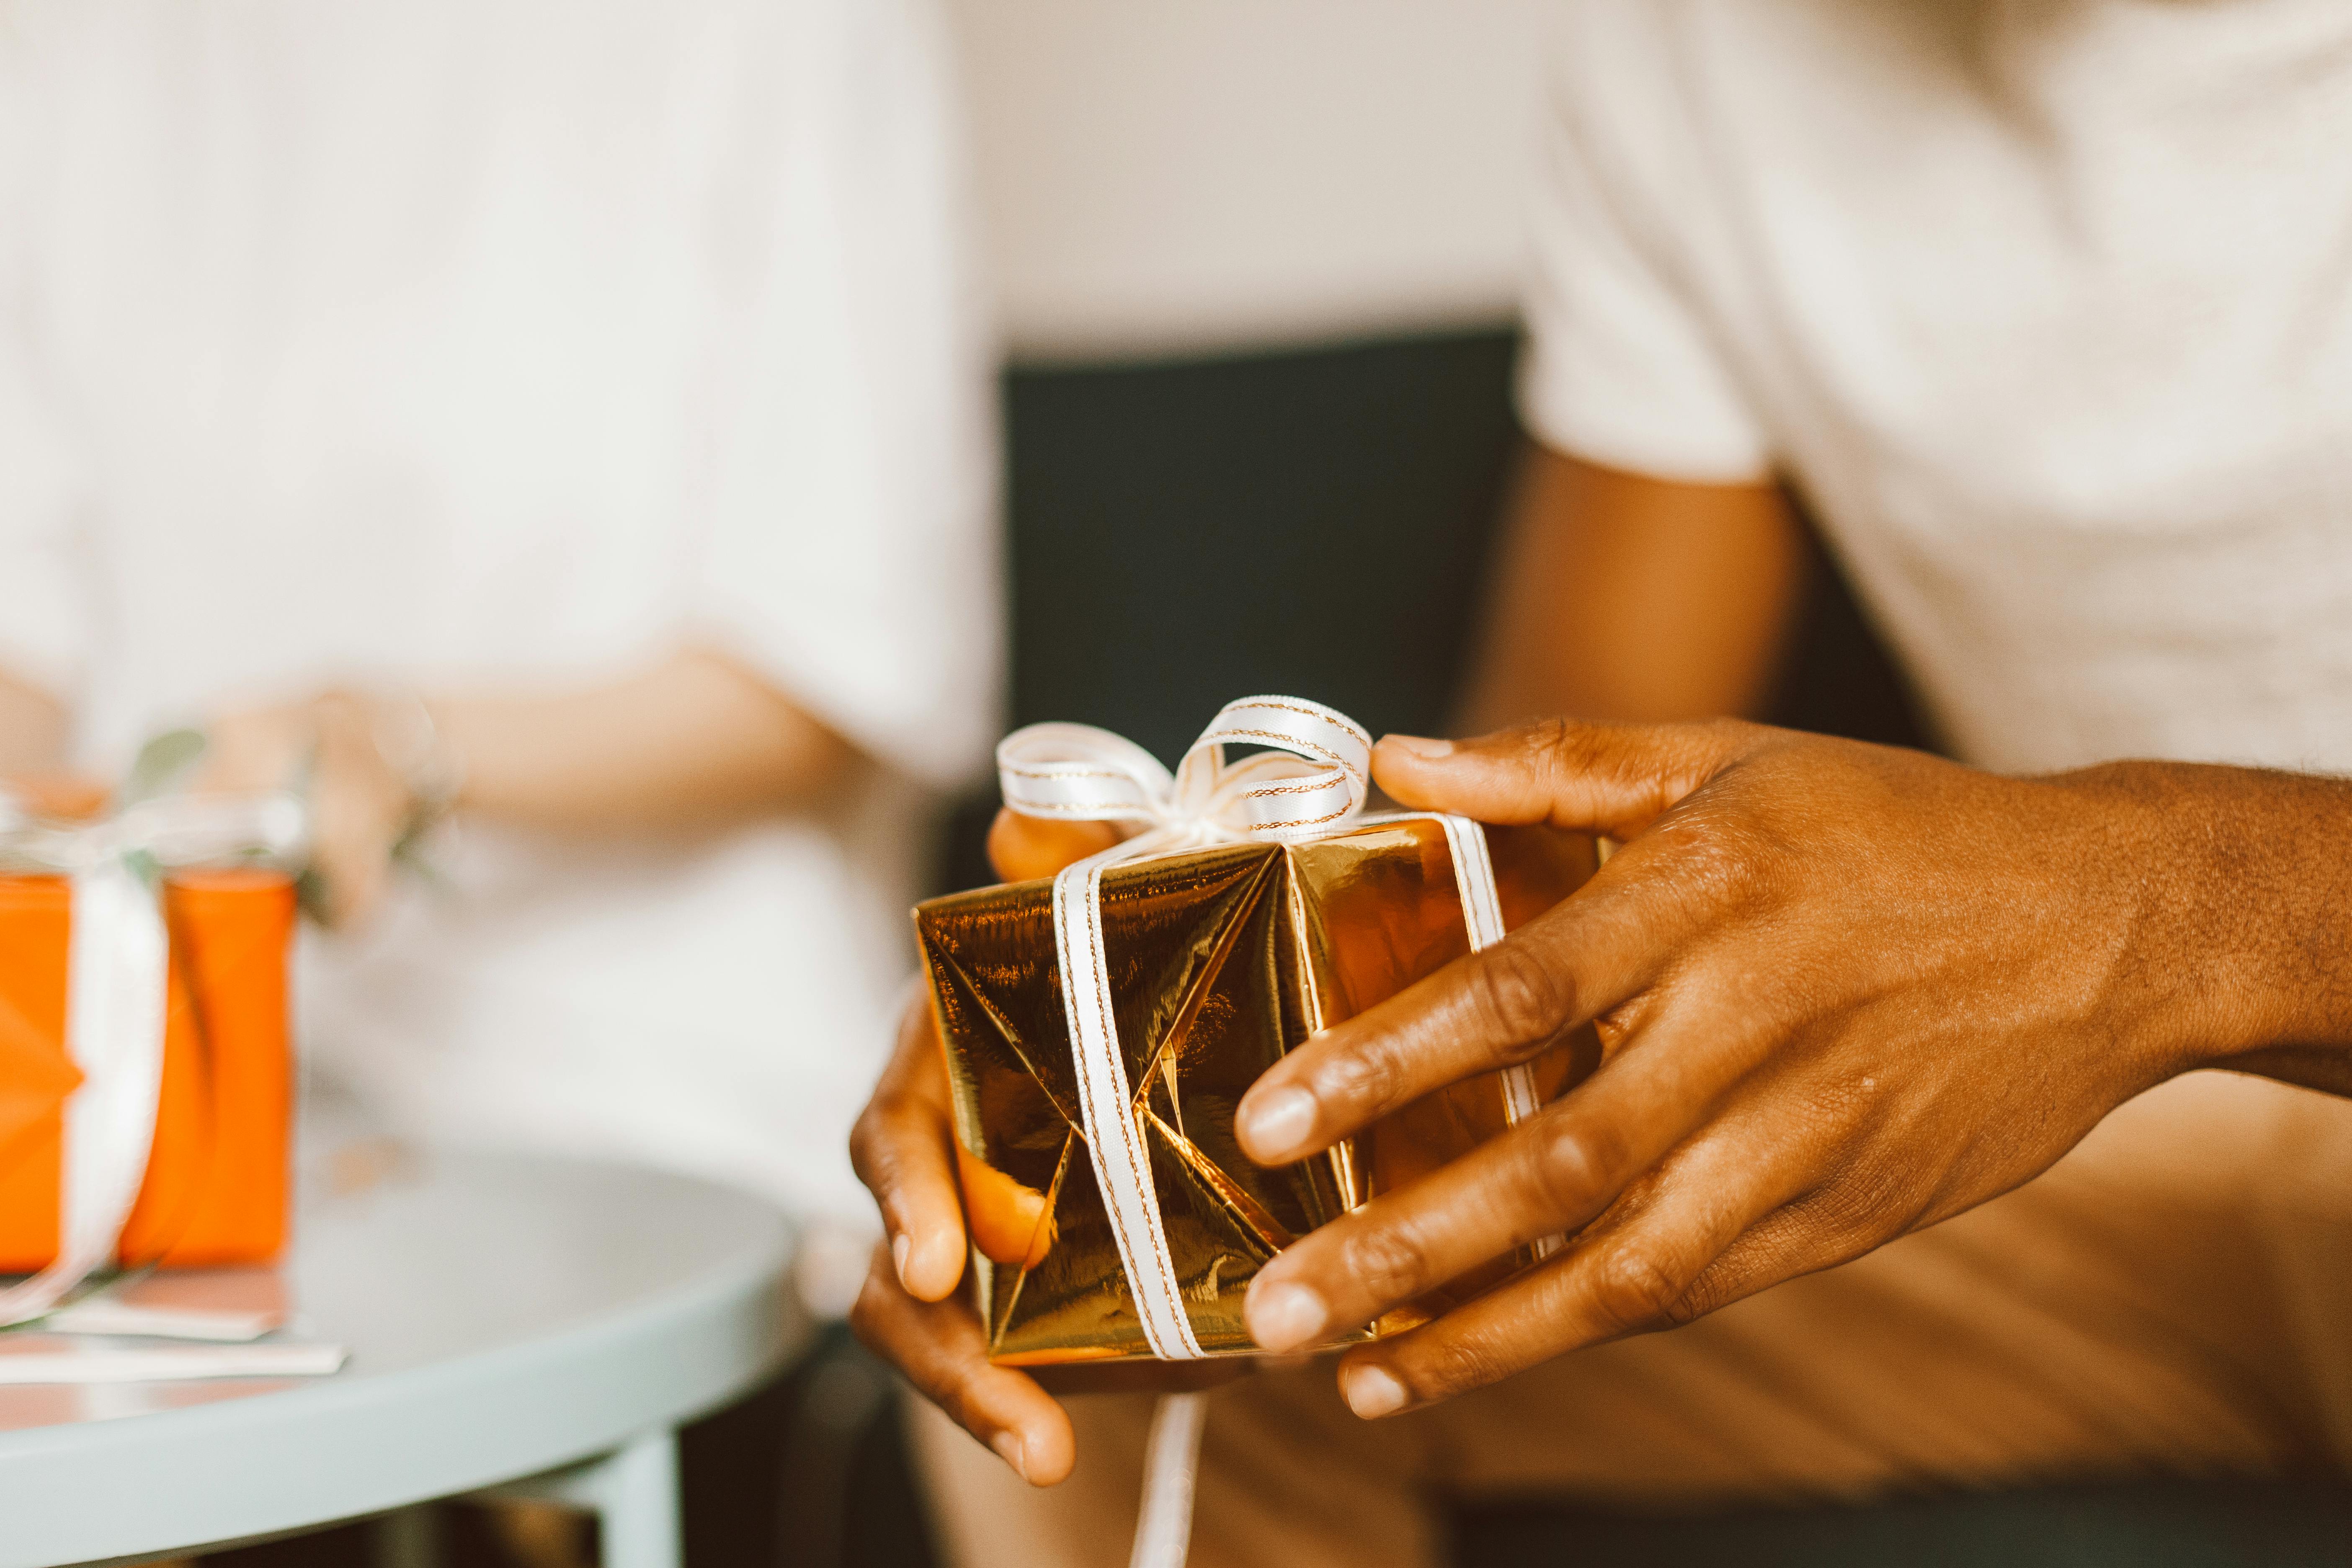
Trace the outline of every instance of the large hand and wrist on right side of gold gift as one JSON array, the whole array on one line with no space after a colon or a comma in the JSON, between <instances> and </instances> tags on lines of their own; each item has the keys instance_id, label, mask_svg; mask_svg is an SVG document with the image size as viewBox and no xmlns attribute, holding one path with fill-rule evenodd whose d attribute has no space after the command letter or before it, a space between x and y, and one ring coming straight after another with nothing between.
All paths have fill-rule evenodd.
<instances>
[{"instance_id":1,"label":"large hand and wrist on right side of gold gift","mask_svg":"<svg viewBox=\"0 0 2352 1568\"><path fill-rule=\"evenodd\" d=\"M1599 1025L1583 1086L1251 1284L1251 1333L1291 1349L1573 1237L1352 1349L1359 1415L1867 1253L2030 1180L2187 1067L2277 1072L2296 1046L2319 1067L2279 1077L2343 1079L2352 790L2333 780L2173 764L2018 780L1736 722L1390 736L1374 776L1409 806L1625 846L1242 1100L1249 1154L1294 1161Z\"/></svg>"}]
</instances>

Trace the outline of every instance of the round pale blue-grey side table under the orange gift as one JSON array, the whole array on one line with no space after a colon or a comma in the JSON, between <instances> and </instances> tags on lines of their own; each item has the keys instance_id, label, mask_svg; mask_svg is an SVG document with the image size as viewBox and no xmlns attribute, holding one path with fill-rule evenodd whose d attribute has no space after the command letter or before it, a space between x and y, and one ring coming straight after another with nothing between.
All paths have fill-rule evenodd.
<instances>
[{"instance_id":1,"label":"round pale blue-grey side table under the orange gift","mask_svg":"<svg viewBox=\"0 0 2352 1568\"><path fill-rule=\"evenodd\" d=\"M595 1509L677 1568L682 1422L807 1338L793 1227L680 1175L435 1152L313 1197L285 1262L334 1378L0 1387L0 1568L136 1561L480 1490ZM395 1526L400 1521L395 1519Z\"/></svg>"}]
</instances>

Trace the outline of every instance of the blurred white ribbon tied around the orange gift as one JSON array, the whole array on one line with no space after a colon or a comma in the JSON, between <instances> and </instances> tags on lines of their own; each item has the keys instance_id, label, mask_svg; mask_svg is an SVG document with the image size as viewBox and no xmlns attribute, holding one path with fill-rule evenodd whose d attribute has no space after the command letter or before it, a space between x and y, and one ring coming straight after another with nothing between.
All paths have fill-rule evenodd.
<instances>
[{"instance_id":1,"label":"blurred white ribbon tied around the orange gift","mask_svg":"<svg viewBox=\"0 0 2352 1568\"><path fill-rule=\"evenodd\" d=\"M56 1260L0 1291L0 1328L42 1316L113 1260L146 1180L172 964L151 875L245 853L289 856L306 837L292 795L174 795L87 827L0 820L7 870L64 875L73 886L66 1053L82 1072L66 1100Z\"/></svg>"}]
</instances>

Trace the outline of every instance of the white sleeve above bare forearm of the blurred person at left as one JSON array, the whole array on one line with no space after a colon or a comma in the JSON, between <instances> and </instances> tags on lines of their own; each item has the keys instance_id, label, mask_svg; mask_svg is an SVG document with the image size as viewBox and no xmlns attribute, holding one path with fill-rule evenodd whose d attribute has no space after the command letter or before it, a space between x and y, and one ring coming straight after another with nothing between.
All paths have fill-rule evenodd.
<instances>
[{"instance_id":1,"label":"white sleeve above bare forearm of the blurred person at left","mask_svg":"<svg viewBox=\"0 0 2352 1568\"><path fill-rule=\"evenodd\" d=\"M722 369L694 630L950 785L997 731L1002 569L946 28L929 0L781 12L710 209Z\"/></svg>"}]
</instances>

